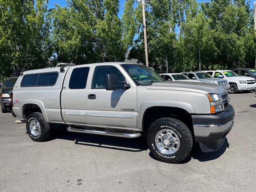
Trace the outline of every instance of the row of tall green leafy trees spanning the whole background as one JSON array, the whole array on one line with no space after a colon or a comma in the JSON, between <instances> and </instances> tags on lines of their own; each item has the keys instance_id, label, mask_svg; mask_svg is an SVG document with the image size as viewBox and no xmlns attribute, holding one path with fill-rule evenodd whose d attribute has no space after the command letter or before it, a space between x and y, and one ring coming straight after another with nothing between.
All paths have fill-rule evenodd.
<instances>
[{"instance_id":1,"label":"row of tall green leafy trees spanning the whole background","mask_svg":"<svg viewBox=\"0 0 256 192\"><path fill-rule=\"evenodd\" d=\"M56 62L145 63L142 6L126 0L0 0L0 79ZM149 64L157 71L254 67L256 32L248 0L151 0L146 6ZM134 40L135 34L138 38ZM55 56L54 64L48 58Z\"/></svg>"}]
</instances>

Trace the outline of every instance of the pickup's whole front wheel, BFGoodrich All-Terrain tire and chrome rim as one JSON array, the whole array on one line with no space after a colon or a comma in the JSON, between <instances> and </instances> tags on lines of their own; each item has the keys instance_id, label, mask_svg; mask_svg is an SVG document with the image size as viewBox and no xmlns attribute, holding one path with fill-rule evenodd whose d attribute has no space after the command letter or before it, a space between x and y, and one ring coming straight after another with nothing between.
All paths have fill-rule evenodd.
<instances>
[{"instance_id":1,"label":"pickup's whole front wheel, BFGoodrich All-Terrain tire and chrome rim","mask_svg":"<svg viewBox=\"0 0 256 192\"><path fill-rule=\"evenodd\" d=\"M193 138L188 127L181 121L161 118L148 128L147 144L157 160L176 164L190 154Z\"/></svg>"}]
</instances>

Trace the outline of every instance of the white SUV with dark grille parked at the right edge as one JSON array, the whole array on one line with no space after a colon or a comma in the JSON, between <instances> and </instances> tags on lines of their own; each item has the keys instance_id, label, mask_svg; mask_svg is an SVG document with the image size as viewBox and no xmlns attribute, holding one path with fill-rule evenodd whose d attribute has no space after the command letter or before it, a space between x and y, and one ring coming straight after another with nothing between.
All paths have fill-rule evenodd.
<instances>
[{"instance_id":1,"label":"white SUV with dark grille parked at the right edge","mask_svg":"<svg viewBox=\"0 0 256 192\"><path fill-rule=\"evenodd\" d=\"M251 77L239 76L230 70L204 71L213 77L226 79L230 84L229 93L237 93L238 91L252 91L256 88L255 79Z\"/></svg>"}]
</instances>

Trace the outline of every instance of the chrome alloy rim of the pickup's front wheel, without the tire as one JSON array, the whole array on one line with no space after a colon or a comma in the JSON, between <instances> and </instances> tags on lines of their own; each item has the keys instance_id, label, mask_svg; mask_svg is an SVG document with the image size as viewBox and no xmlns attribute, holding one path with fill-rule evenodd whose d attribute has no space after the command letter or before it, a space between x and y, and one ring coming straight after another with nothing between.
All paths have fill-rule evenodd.
<instances>
[{"instance_id":1,"label":"chrome alloy rim of the pickup's front wheel, without the tire","mask_svg":"<svg viewBox=\"0 0 256 192\"><path fill-rule=\"evenodd\" d=\"M170 129L162 129L158 131L155 138L156 147L163 154L174 154L180 147L180 139L178 135Z\"/></svg>"}]
</instances>

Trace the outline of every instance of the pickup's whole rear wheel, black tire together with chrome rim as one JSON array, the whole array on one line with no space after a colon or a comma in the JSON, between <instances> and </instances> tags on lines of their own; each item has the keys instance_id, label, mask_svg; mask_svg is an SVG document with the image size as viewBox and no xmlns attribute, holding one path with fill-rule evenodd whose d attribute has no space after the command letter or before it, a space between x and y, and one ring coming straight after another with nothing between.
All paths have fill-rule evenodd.
<instances>
[{"instance_id":1,"label":"pickup's whole rear wheel, black tire together with chrome rim","mask_svg":"<svg viewBox=\"0 0 256 192\"><path fill-rule=\"evenodd\" d=\"M26 128L29 137L36 142L42 142L50 136L50 125L42 113L34 112L28 116Z\"/></svg>"}]
</instances>

